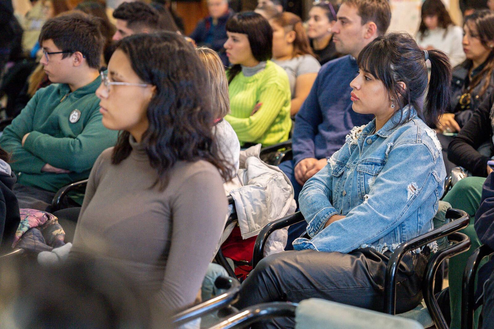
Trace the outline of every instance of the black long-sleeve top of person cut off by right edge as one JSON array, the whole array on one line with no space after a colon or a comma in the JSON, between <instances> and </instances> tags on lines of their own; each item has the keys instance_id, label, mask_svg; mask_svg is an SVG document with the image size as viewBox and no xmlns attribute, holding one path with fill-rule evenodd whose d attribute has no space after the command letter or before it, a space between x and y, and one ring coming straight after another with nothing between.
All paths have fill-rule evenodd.
<instances>
[{"instance_id":1,"label":"black long-sleeve top of person cut off by right edge","mask_svg":"<svg viewBox=\"0 0 494 329\"><path fill-rule=\"evenodd\" d=\"M448 159L474 176L487 177L487 162L491 158L480 154L477 149L493 136L490 118L493 104L494 93L484 99L448 147Z\"/></svg>"}]
</instances>

